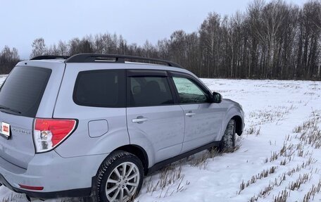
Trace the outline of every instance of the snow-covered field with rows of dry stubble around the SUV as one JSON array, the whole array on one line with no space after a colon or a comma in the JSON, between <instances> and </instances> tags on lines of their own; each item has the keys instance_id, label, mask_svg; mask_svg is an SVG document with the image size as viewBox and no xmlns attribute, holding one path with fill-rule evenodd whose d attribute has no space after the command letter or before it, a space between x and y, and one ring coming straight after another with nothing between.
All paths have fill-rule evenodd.
<instances>
[{"instance_id":1,"label":"snow-covered field with rows of dry stubble around the SUV","mask_svg":"<svg viewBox=\"0 0 321 202\"><path fill-rule=\"evenodd\" d=\"M243 106L239 149L203 151L146 177L137 201L321 201L321 82L203 82ZM24 197L0 187L0 201Z\"/></svg>"}]
</instances>

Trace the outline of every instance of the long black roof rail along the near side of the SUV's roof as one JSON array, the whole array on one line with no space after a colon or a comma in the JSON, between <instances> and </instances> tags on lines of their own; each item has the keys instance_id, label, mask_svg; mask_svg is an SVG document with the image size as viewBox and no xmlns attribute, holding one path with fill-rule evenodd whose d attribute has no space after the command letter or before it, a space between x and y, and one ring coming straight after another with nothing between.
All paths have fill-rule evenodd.
<instances>
[{"instance_id":1,"label":"long black roof rail along the near side of the SUV's roof","mask_svg":"<svg viewBox=\"0 0 321 202\"><path fill-rule=\"evenodd\" d=\"M114 58L113 61L107 58ZM115 63L125 63L125 59L134 61L151 61L156 63L165 63L170 67L182 68L177 63L171 61L165 61L155 58L144 58L139 56L124 56L124 55L113 55L113 54L96 54L96 53L82 53L75 56L71 56L65 63L95 63L95 62L115 62Z\"/></svg>"}]
</instances>

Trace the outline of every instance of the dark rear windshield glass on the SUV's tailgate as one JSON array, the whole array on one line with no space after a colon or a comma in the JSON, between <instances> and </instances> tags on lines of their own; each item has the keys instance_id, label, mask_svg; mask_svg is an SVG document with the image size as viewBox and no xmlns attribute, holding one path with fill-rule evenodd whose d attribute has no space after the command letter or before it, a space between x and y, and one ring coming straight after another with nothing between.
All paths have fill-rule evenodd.
<instances>
[{"instance_id":1,"label":"dark rear windshield glass on the SUV's tailgate","mask_svg":"<svg viewBox=\"0 0 321 202\"><path fill-rule=\"evenodd\" d=\"M51 70L16 67L0 89L0 111L34 118Z\"/></svg>"}]
</instances>

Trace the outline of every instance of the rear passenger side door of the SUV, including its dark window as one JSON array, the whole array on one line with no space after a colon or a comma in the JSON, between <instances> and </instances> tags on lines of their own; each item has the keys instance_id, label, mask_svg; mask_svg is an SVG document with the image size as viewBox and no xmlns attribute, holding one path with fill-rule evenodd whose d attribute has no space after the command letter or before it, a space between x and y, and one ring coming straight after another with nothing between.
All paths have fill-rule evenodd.
<instances>
[{"instance_id":1,"label":"rear passenger side door of the SUV, including its dark window","mask_svg":"<svg viewBox=\"0 0 321 202\"><path fill-rule=\"evenodd\" d=\"M131 144L146 144L155 163L177 156L184 139L184 114L175 104L167 72L127 70L127 126Z\"/></svg>"}]
</instances>

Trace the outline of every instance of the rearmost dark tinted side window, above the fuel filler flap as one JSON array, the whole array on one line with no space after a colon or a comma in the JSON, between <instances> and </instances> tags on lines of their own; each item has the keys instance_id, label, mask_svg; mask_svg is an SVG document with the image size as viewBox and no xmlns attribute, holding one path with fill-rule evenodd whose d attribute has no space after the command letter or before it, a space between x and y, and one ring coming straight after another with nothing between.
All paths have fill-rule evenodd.
<instances>
[{"instance_id":1,"label":"rearmost dark tinted side window, above the fuel filler flap","mask_svg":"<svg viewBox=\"0 0 321 202\"><path fill-rule=\"evenodd\" d=\"M77 76L74 101L82 106L125 107L125 70L91 70Z\"/></svg>"}]
</instances>

